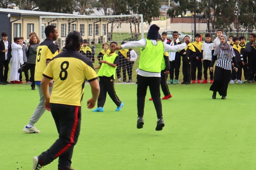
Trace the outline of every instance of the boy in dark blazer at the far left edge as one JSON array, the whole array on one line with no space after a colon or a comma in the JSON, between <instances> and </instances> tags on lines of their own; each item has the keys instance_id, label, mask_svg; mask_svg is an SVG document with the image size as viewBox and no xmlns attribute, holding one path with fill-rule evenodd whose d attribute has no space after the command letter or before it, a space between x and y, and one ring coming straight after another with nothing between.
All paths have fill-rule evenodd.
<instances>
[{"instance_id":1,"label":"boy in dark blazer at the far left edge","mask_svg":"<svg viewBox=\"0 0 256 170\"><path fill-rule=\"evenodd\" d=\"M8 33L3 31L1 33L2 40L0 41L0 84L6 85L10 84L7 81L8 71L9 71L9 62L11 59L11 48L10 43L7 40Z\"/></svg>"}]
</instances>

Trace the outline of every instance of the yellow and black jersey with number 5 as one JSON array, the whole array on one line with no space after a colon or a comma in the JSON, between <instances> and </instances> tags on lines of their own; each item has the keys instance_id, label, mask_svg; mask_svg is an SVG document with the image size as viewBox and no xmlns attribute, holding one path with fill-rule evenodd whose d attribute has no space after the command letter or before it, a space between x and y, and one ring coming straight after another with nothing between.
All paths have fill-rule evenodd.
<instances>
[{"instance_id":1,"label":"yellow and black jersey with number 5","mask_svg":"<svg viewBox=\"0 0 256 170\"><path fill-rule=\"evenodd\" d=\"M37 48L36 53L36 68L35 81L41 81L44 69L46 68L46 61L51 60L58 55L57 46L50 39L45 39Z\"/></svg>"}]
</instances>

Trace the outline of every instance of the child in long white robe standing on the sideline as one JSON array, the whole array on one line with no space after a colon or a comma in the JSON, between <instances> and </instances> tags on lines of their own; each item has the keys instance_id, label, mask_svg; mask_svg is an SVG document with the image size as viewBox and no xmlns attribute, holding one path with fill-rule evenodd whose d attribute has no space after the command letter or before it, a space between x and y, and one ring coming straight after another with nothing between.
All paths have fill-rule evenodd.
<instances>
[{"instance_id":1,"label":"child in long white robe standing on the sideline","mask_svg":"<svg viewBox=\"0 0 256 170\"><path fill-rule=\"evenodd\" d=\"M18 37L14 37L12 43L12 58L10 60L11 70L10 70L10 82L12 84L21 84L20 74L18 73L18 69L20 68L20 64L23 64L23 52L22 47L20 45L20 39Z\"/></svg>"}]
</instances>

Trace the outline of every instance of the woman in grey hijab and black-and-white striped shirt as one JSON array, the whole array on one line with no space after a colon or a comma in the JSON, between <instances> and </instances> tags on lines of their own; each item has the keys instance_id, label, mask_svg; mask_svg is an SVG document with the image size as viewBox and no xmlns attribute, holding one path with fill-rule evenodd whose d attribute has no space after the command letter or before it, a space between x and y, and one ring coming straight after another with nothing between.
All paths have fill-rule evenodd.
<instances>
[{"instance_id":1,"label":"woman in grey hijab and black-and-white striped shirt","mask_svg":"<svg viewBox=\"0 0 256 170\"><path fill-rule=\"evenodd\" d=\"M213 65L216 61L213 83L210 90L213 91L212 99L216 99L216 93L219 92L221 99L226 99L228 83L230 80L231 69L237 71L235 52L231 45L228 44L226 35L220 36L220 45L216 46L210 70L213 71Z\"/></svg>"}]
</instances>

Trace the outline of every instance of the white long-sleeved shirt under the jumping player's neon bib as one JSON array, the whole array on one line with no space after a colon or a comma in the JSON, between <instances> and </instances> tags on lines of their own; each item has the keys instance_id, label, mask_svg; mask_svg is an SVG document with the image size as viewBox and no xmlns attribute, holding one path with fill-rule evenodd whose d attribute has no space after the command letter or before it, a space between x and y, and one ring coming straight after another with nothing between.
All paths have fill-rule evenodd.
<instances>
[{"instance_id":1,"label":"white long-sleeved shirt under the jumping player's neon bib","mask_svg":"<svg viewBox=\"0 0 256 170\"><path fill-rule=\"evenodd\" d=\"M152 41L152 44L154 46L157 45L156 40L150 40ZM147 41L146 39L141 39L139 41L130 41L130 42L126 42L125 44L121 45L122 49L129 49L129 48L141 48L144 49L146 47ZM183 44L179 44L179 45L175 45L175 46L171 46L169 44L164 44L164 52L167 51L171 51L171 52L177 52L180 51L184 48L187 47L186 43ZM140 70L139 68L137 69L137 74L143 77L161 77L160 73L153 73L153 72L148 72L148 71L144 71L144 70Z\"/></svg>"}]
</instances>

